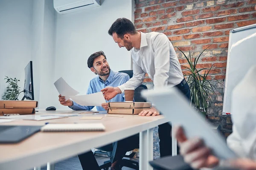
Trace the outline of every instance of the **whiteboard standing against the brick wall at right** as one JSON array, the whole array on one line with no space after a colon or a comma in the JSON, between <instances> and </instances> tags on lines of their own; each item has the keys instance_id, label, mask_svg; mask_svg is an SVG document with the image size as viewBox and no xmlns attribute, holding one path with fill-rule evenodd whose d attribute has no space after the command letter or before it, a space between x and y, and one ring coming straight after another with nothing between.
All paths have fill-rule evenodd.
<instances>
[{"instance_id":1,"label":"whiteboard standing against the brick wall at right","mask_svg":"<svg viewBox=\"0 0 256 170\"><path fill-rule=\"evenodd\" d=\"M231 112L232 91L253 65L256 65L256 24L233 29L227 53L223 114Z\"/></svg>"}]
</instances>

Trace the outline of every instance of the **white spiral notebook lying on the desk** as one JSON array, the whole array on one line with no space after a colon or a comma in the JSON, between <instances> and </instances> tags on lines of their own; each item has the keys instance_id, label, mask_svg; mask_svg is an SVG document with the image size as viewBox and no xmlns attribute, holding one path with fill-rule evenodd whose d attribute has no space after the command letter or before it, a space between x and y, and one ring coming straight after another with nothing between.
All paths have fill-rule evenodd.
<instances>
[{"instance_id":1,"label":"white spiral notebook lying on the desk","mask_svg":"<svg viewBox=\"0 0 256 170\"><path fill-rule=\"evenodd\" d=\"M102 123L49 123L41 127L42 132L105 131Z\"/></svg>"}]
</instances>

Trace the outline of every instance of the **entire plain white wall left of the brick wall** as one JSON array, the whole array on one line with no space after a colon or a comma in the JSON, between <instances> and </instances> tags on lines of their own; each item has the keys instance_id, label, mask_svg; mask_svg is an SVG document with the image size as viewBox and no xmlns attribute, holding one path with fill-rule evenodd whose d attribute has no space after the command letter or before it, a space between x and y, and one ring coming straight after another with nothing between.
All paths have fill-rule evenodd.
<instances>
[{"instance_id":1,"label":"entire plain white wall left of the brick wall","mask_svg":"<svg viewBox=\"0 0 256 170\"><path fill-rule=\"evenodd\" d=\"M57 14L53 0L0 0L0 95L6 90L4 75L20 79L33 61L35 100L39 108L58 102L53 83L63 77L73 88L86 93L90 79L90 54L105 52L112 70L131 69L131 54L108 35L119 17L133 20L134 0L105 0L102 6L70 14ZM23 95L21 94L19 99Z\"/></svg>"}]
</instances>

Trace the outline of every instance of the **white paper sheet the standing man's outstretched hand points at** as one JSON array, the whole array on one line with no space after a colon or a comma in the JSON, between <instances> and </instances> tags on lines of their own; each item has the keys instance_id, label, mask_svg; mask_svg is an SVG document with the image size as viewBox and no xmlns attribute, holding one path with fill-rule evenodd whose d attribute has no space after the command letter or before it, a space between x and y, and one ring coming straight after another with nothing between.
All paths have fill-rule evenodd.
<instances>
[{"instance_id":1,"label":"white paper sheet the standing man's outstretched hand points at","mask_svg":"<svg viewBox=\"0 0 256 170\"><path fill-rule=\"evenodd\" d=\"M82 106L101 106L102 103L106 102L102 92L86 94L86 95L70 96L70 98L74 102Z\"/></svg>"}]
</instances>

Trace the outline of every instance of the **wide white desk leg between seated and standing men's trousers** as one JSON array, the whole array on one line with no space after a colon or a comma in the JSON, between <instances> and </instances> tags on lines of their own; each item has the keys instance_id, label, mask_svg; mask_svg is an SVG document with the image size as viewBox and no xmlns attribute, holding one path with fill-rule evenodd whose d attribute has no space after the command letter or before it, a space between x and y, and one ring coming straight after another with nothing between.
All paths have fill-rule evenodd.
<instances>
[{"instance_id":1,"label":"wide white desk leg between seated and standing men's trousers","mask_svg":"<svg viewBox=\"0 0 256 170\"><path fill-rule=\"evenodd\" d=\"M148 167L147 136L148 136L147 130L140 132L140 159L139 159L140 170L146 170L146 168Z\"/></svg>"}]
</instances>

